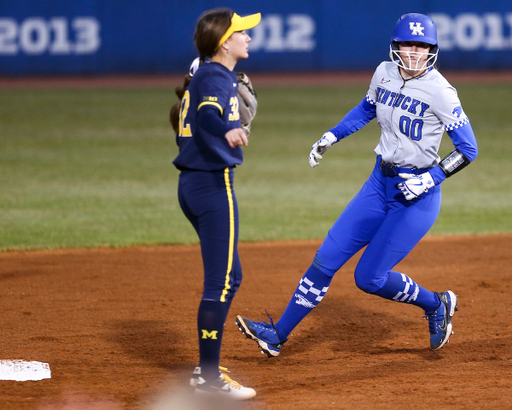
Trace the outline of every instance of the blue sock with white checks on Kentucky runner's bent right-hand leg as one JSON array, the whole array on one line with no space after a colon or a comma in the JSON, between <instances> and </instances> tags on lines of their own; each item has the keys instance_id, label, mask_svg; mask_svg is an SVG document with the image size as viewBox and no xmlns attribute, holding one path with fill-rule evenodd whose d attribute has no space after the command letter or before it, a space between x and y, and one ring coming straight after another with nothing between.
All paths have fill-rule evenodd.
<instances>
[{"instance_id":1,"label":"blue sock with white checks on Kentucky runner's bent right-hand leg","mask_svg":"<svg viewBox=\"0 0 512 410\"><path fill-rule=\"evenodd\" d=\"M384 299L419 306L425 312L432 312L439 306L439 298L434 292L418 285L409 276L395 271L389 272L384 286L374 294Z\"/></svg>"}]
</instances>

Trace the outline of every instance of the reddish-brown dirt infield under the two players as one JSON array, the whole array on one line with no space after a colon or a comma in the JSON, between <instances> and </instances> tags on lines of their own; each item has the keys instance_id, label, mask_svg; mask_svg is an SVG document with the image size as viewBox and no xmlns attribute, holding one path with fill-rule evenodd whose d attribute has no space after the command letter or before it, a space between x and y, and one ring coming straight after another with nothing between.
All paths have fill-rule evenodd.
<instances>
[{"instance_id":1,"label":"reddish-brown dirt infield under the two players","mask_svg":"<svg viewBox=\"0 0 512 410\"><path fill-rule=\"evenodd\" d=\"M222 365L256 389L244 409L512 407L512 235L427 237L399 265L425 287L459 295L442 351L428 349L418 308L356 288L356 256L268 359L235 316L264 318L267 309L279 318L319 244L240 244L244 282ZM41 381L0 381L1 409L138 410L166 392L187 394L198 360L198 246L6 252L0 282L0 359L52 371Z\"/></svg>"}]
</instances>

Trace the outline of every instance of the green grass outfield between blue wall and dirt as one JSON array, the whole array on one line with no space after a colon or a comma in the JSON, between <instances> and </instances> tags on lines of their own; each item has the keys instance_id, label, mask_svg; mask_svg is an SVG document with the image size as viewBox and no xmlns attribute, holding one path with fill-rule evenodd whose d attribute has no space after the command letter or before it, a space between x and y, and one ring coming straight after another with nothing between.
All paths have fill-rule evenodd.
<instances>
[{"instance_id":1,"label":"green grass outfield between blue wall and dirt","mask_svg":"<svg viewBox=\"0 0 512 410\"><path fill-rule=\"evenodd\" d=\"M456 84L457 85L457 84ZM443 183L433 235L512 232L512 84L459 85L480 155ZM323 238L371 172L376 122L312 169L366 86L257 87L235 173L241 241ZM0 250L197 242L179 208L167 89L0 90ZM441 156L451 150L445 137Z\"/></svg>"}]
</instances>

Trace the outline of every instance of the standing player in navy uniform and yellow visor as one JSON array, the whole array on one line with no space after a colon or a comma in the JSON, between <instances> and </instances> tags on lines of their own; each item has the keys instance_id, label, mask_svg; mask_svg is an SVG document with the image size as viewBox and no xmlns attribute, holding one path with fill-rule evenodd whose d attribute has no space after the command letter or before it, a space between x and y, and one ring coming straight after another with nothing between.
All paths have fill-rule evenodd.
<instances>
[{"instance_id":1,"label":"standing player in navy uniform and yellow visor","mask_svg":"<svg viewBox=\"0 0 512 410\"><path fill-rule=\"evenodd\" d=\"M191 385L196 393L222 393L250 399L254 389L233 381L219 368L224 323L242 281L237 251L238 208L233 190L234 168L242 164L247 134L241 128L238 61L249 56L251 38L261 15L240 17L229 9L215 9L198 20L194 42L199 64L191 67L180 98L171 110L179 154L178 199L201 243L204 288L197 315L199 366ZM197 69L196 69L197 68Z\"/></svg>"}]
</instances>

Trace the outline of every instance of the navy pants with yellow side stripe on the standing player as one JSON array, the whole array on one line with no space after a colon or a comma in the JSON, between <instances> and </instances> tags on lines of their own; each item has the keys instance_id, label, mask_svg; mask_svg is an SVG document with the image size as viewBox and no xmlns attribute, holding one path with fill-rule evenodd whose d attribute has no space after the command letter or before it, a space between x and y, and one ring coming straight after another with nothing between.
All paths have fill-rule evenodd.
<instances>
[{"instance_id":1,"label":"navy pants with yellow side stripe on the standing player","mask_svg":"<svg viewBox=\"0 0 512 410\"><path fill-rule=\"evenodd\" d=\"M180 173L178 200L201 242L203 300L230 301L242 282L233 168Z\"/></svg>"}]
</instances>

